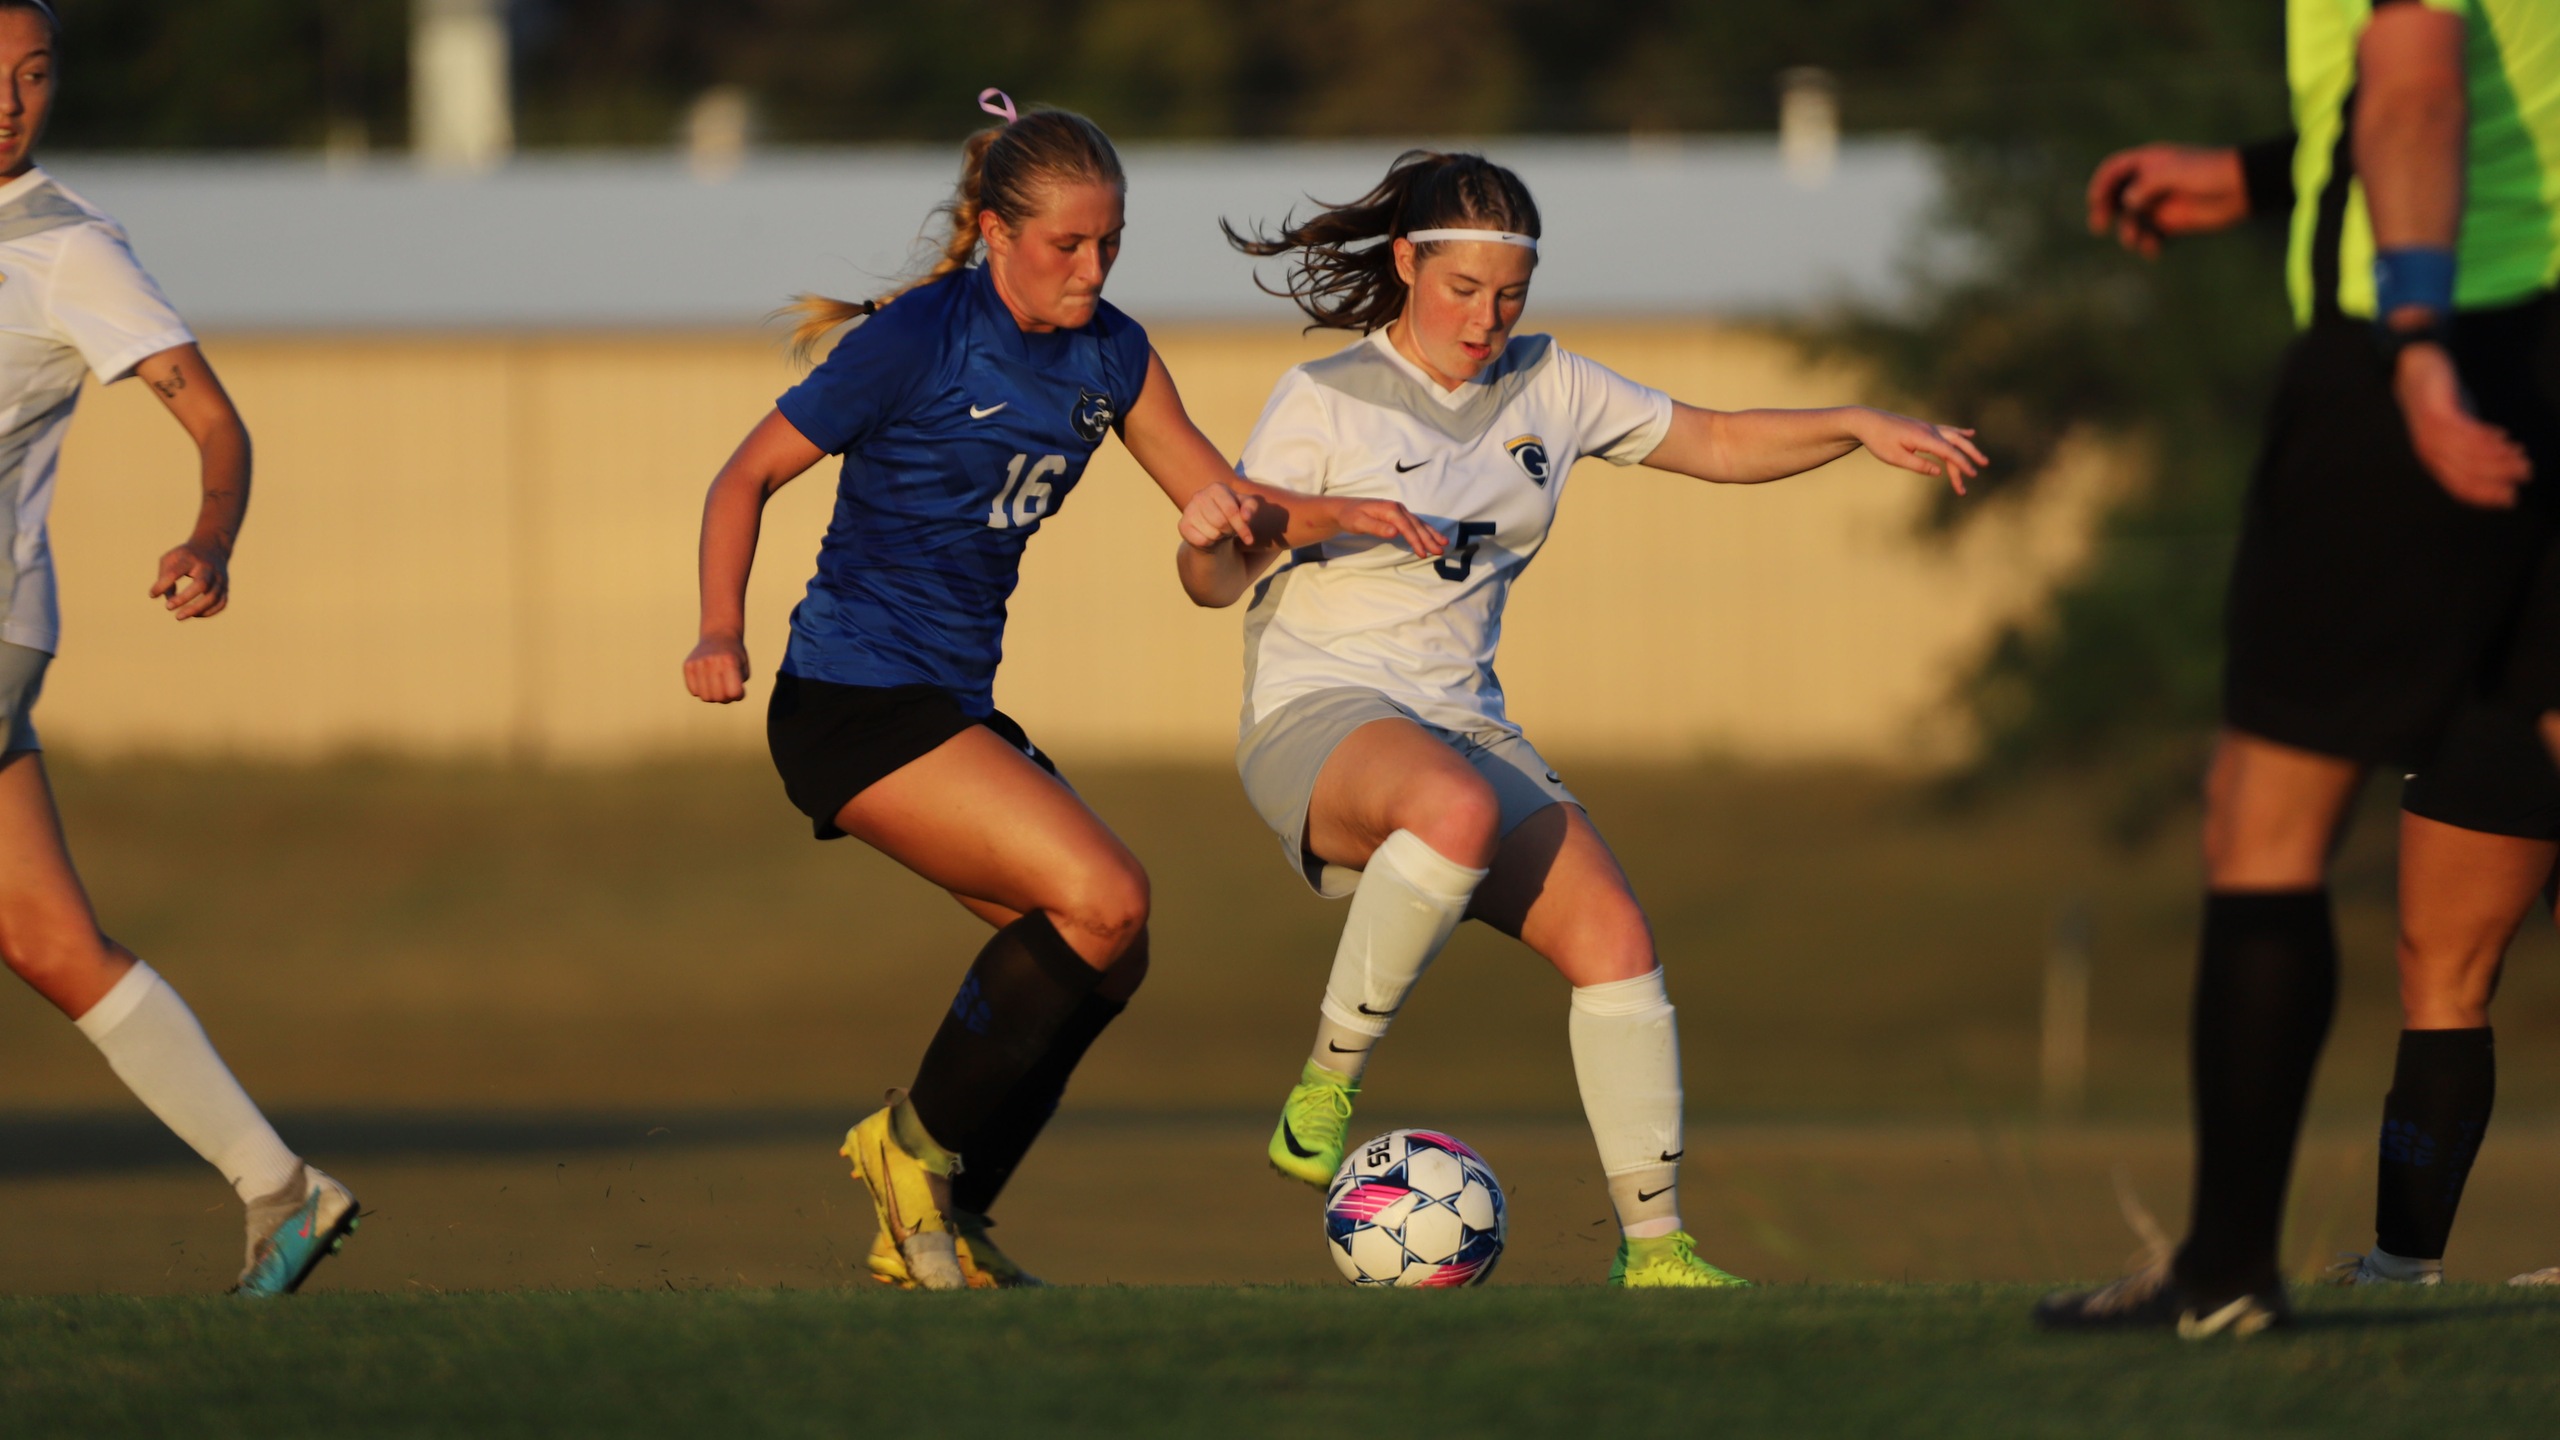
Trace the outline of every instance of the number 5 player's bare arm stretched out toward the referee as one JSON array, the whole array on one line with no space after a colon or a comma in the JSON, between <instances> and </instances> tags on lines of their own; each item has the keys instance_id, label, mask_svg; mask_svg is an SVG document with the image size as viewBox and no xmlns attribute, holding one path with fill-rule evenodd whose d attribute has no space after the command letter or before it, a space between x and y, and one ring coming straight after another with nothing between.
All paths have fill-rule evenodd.
<instances>
[{"instance_id":1,"label":"number 5 player's bare arm stretched out toward the referee","mask_svg":"<svg viewBox=\"0 0 2560 1440\"><path fill-rule=\"evenodd\" d=\"M1672 428L1644 464L1718 484L1761 484L1825 466L1859 446L1889 466L1943 477L1956 495L1992 464L1974 446L1974 430L1864 405L1836 410L1674 405Z\"/></svg>"}]
</instances>

